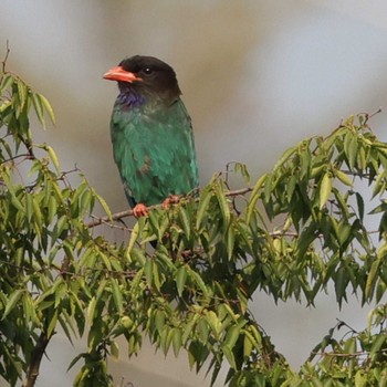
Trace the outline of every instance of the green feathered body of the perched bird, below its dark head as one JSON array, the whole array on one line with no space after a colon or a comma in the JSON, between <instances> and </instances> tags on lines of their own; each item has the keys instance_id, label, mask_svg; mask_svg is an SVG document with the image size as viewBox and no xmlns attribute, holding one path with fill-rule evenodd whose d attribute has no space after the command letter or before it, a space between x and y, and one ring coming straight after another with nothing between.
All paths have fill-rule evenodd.
<instances>
[{"instance_id":1,"label":"green feathered body of the perched bird, below its dark head","mask_svg":"<svg viewBox=\"0 0 387 387\"><path fill-rule=\"evenodd\" d=\"M192 127L180 100L154 109L114 107L114 159L133 207L163 202L198 186Z\"/></svg>"}]
</instances>

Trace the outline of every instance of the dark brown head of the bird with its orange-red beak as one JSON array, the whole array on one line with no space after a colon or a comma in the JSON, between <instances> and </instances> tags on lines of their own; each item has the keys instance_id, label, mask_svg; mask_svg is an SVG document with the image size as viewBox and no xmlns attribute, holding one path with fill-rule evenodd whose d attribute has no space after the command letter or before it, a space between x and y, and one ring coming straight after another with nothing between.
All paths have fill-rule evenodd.
<instances>
[{"instance_id":1,"label":"dark brown head of the bird with its orange-red beak","mask_svg":"<svg viewBox=\"0 0 387 387\"><path fill-rule=\"evenodd\" d=\"M117 81L122 93L158 95L163 100L176 98L181 94L174 69L154 56L124 59L104 74L104 79Z\"/></svg>"}]
</instances>

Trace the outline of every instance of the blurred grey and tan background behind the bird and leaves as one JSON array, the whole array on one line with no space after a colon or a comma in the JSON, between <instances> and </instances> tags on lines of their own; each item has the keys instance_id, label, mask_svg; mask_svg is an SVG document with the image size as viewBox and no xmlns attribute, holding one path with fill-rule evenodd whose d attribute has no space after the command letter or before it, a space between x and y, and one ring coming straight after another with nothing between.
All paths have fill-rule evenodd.
<instances>
[{"instance_id":1,"label":"blurred grey and tan background behind the bird and leaves","mask_svg":"<svg viewBox=\"0 0 387 387\"><path fill-rule=\"evenodd\" d=\"M290 146L327 135L342 118L387 105L385 0L35 0L0 1L0 59L52 103L56 125L34 132L54 147L63 169L77 165L113 211L127 208L109 143L117 94L102 75L123 57L158 56L178 74L192 117L201 185L228 161L245 163L255 180ZM386 140L387 112L372 119ZM276 349L299 367L344 320L366 324L353 297L338 311L334 295L316 307L275 305L257 294L251 308ZM72 385L73 348L60 334L39 387ZM209 386L205 372L145 343L140 355L111 362L116 385ZM224 374L224 373L223 373ZM122 379L123 377L123 379ZM222 386L220 376L217 386Z\"/></svg>"}]
</instances>

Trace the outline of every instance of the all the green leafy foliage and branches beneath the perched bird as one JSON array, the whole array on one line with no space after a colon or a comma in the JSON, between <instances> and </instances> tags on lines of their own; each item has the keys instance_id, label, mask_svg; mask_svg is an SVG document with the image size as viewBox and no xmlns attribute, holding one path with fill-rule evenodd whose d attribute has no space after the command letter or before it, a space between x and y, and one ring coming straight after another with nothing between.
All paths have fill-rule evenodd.
<instances>
[{"instance_id":1,"label":"all the green leafy foliage and branches beneath the perched bird","mask_svg":"<svg viewBox=\"0 0 387 387\"><path fill-rule=\"evenodd\" d=\"M49 145L33 143L31 108L43 126L54 119L41 94L0 73L0 376L11 386L34 385L59 327L70 342L87 337L70 365L82 363L75 386L113 386L116 339L132 356L145 335L163 353L187 352L196 370L209 367L212 384L227 363L230 386L387 385L386 305L363 332L332 328L299 372L249 312L257 290L313 305L330 283L339 305L353 292L381 301L387 145L367 115L286 150L251 188L231 190L220 174L198 196L156 206L116 245L94 229L123 216L79 170L62 171ZM236 169L249 184L245 167ZM96 203L106 219L91 220ZM349 335L335 338L343 327Z\"/></svg>"}]
</instances>

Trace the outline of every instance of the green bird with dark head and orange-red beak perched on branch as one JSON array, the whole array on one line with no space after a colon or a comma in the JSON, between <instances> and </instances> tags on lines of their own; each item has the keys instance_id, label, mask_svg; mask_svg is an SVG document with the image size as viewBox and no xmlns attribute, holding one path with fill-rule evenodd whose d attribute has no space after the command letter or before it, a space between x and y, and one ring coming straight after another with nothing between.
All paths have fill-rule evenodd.
<instances>
[{"instance_id":1,"label":"green bird with dark head and orange-red beak perched on branch","mask_svg":"<svg viewBox=\"0 0 387 387\"><path fill-rule=\"evenodd\" d=\"M191 119L167 63L135 55L104 74L117 81L111 137L113 155L136 217L198 187Z\"/></svg>"}]
</instances>

